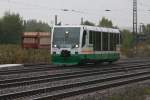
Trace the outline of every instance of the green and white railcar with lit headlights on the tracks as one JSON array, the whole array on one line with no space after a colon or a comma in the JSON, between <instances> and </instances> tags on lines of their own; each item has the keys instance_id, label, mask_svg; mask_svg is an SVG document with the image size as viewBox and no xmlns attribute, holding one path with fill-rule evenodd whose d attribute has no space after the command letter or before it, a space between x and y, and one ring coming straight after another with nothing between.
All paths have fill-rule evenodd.
<instances>
[{"instance_id":1,"label":"green and white railcar with lit headlights on the tracks","mask_svg":"<svg viewBox=\"0 0 150 100\"><path fill-rule=\"evenodd\" d=\"M51 38L54 64L114 62L120 58L120 31L94 26L55 26Z\"/></svg>"}]
</instances>

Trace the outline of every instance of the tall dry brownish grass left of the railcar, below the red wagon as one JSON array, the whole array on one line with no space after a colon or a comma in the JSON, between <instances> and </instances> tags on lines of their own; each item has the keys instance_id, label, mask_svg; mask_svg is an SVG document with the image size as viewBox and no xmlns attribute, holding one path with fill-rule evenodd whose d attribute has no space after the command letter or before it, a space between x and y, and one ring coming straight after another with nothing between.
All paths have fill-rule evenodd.
<instances>
[{"instance_id":1,"label":"tall dry brownish grass left of the railcar, below the red wagon","mask_svg":"<svg viewBox=\"0 0 150 100\"><path fill-rule=\"evenodd\" d=\"M19 45L0 45L0 64L50 63L50 52L44 49L23 49Z\"/></svg>"}]
</instances>

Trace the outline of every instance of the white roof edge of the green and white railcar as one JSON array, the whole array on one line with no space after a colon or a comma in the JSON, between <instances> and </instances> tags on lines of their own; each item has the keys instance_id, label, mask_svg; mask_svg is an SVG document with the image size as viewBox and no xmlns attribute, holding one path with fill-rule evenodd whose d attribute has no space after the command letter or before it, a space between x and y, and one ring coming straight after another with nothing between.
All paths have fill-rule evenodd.
<instances>
[{"instance_id":1,"label":"white roof edge of the green and white railcar","mask_svg":"<svg viewBox=\"0 0 150 100\"><path fill-rule=\"evenodd\" d=\"M87 25L62 25L62 26L54 26L54 27L81 27L81 28L84 28L86 30L92 30L92 31L101 31L101 32L108 32L108 33L120 33L119 29L87 26Z\"/></svg>"}]
</instances>

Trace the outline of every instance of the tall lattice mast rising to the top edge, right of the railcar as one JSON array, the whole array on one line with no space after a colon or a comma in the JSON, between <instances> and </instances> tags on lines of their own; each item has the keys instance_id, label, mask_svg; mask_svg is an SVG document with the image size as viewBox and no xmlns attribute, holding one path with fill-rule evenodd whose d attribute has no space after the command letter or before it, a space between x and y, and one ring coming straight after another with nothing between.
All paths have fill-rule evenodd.
<instances>
[{"instance_id":1,"label":"tall lattice mast rising to the top edge, right of the railcar","mask_svg":"<svg viewBox=\"0 0 150 100\"><path fill-rule=\"evenodd\" d=\"M137 0L133 0L133 35L135 40L135 54L137 53Z\"/></svg>"}]
</instances>

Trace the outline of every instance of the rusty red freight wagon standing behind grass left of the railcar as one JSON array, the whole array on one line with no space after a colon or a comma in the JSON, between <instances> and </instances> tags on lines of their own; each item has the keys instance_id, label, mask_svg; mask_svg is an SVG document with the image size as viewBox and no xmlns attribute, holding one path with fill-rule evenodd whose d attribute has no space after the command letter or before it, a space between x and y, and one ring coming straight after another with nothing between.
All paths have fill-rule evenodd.
<instances>
[{"instance_id":1,"label":"rusty red freight wagon standing behind grass left of the railcar","mask_svg":"<svg viewBox=\"0 0 150 100\"><path fill-rule=\"evenodd\" d=\"M22 35L22 47L50 49L50 33L24 32Z\"/></svg>"}]
</instances>

